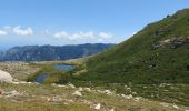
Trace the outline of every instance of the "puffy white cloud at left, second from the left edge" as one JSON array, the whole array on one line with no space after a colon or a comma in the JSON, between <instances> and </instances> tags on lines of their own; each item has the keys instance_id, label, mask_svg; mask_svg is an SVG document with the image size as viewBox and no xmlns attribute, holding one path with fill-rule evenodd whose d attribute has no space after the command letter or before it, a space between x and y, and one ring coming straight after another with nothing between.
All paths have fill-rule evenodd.
<instances>
[{"instance_id":1,"label":"puffy white cloud at left, second from the left edge","mask_svg":"<svg viewBox=\"0 0 189 111\"><path fill-rule=\"evenodd\" d=\"M18 36L31 36L33 33L32 29L30 27L26 29L21 29L21 26L14 27L12 29L13 33Z\"/></svg>"}]
</instances>

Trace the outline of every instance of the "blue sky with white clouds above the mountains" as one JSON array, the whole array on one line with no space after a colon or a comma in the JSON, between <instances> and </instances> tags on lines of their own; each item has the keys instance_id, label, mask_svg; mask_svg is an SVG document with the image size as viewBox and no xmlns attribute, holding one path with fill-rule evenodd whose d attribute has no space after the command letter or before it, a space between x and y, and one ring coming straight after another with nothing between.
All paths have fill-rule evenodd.
<instances>
[{"instance_id":1,"label":"blue sky with white clouds above the mountains","mask_svg":"<svg viewBox=\"0 0 189 111\"><path fill-rule=\"evenodd\" d=\"M119 43L189 0L0 0L0 49Z\"/></svg>"}]
</instances>

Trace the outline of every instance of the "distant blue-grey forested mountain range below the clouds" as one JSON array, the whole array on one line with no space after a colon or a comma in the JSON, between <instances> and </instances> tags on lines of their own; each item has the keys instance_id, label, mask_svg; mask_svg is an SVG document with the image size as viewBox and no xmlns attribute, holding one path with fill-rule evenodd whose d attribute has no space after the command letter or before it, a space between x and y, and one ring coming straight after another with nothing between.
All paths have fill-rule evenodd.
<instances>
[{"instance_id":1,"label":"distant blue-grey forested mountain range below the clouds","mask_svg":"<svg viewBox=\"0 0 189 111\"><path fill-rule=\"evenodd\" d=\"M99 53L115 44L86 43L78 46L24 46L0 52L0 61L68 60Z\"/></svg>"}]
</instances>

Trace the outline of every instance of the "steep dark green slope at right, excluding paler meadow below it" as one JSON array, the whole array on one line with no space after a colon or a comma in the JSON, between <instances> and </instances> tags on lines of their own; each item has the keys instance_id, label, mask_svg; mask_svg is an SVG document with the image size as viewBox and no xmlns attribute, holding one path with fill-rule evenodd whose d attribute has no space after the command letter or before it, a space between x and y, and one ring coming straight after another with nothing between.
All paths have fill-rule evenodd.
<instances>
[{"instance_id":1,"label":"steep dark green slope at right, excluding paler meadow below it","mask_svg":"<svg viewBox=\"0 0 189 111\"><path fill-rule=\"evenodd\" d=\"M110 83L189 83L189 9L148 24L86 63L77 79Z\"/></svg>"}]
</instances>

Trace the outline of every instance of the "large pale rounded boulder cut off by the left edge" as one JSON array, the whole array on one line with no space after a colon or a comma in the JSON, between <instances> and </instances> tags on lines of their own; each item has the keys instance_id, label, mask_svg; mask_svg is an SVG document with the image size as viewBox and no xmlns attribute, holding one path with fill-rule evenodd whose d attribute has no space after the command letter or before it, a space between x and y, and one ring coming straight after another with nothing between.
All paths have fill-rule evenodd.
<instances>
[{"instance_id":1,"label":"large pale rounded boulder cut off by the left edge","mask_svg":"<svg viewBox=\"0 0 189 111\"><path fill-rule=\"evenodd\" d=\"M10 73L0 70L0 82L12 83L12 80L13 78L10 75Z\"/></svg>"}]
</instances>

